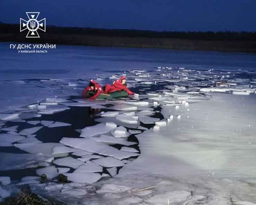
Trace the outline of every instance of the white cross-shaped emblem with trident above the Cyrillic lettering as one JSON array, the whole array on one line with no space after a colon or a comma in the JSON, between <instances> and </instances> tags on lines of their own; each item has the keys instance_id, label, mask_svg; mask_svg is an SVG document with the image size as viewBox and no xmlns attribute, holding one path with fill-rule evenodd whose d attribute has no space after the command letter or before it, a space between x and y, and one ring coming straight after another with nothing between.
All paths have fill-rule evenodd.
<instances>
[{"instance_id":1,"label":"white cross-shaped emblem with trident above the Cyrillic lettering","mask_svg":"<svg viewBox=\"0 0 256 205\"><path fill-rule=\"evenodd\" d=\"M46 31L45 18L43 18L40 21L37 20L40 12L26 12L26 14L28 16L27 21L20 18L20 32L27 29L28 34L27 34L26 38L40 38L37 30L40 29L43 32Z\"/></svg>"}]
</instances>

